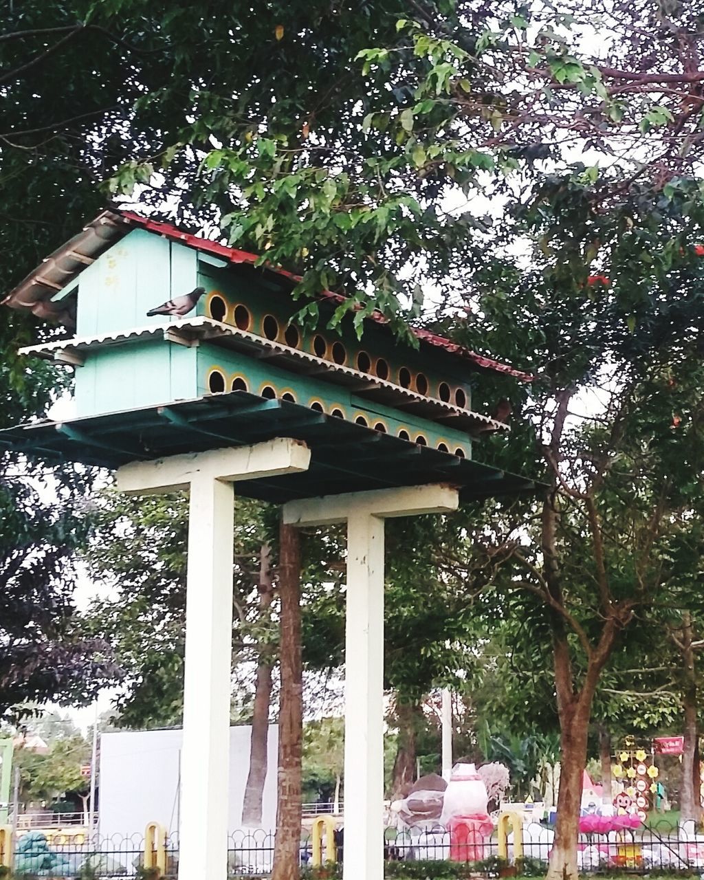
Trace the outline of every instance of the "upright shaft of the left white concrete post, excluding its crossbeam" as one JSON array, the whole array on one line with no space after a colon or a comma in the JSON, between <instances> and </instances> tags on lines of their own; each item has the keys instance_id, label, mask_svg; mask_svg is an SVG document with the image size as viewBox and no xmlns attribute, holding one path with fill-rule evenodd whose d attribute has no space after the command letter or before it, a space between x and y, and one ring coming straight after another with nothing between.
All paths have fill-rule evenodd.
<instances>
[{"instance_id":1,"label":"upright shaft of the left white concrete post, excluding its crossbeam","mask_svg":"<svg viewBox=\"0 0 704 880\"><path fill-rule=\"evenodd\" d=\"M191 482L180 787L180 880L227 876L232 483Z\"/></svg>"}]
</instances>

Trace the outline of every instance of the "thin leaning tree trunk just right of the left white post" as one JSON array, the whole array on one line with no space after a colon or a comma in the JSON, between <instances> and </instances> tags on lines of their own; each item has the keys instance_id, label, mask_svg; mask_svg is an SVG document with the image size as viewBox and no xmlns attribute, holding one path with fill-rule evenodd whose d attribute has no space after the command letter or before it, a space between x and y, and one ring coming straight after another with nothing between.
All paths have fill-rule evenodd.
<instances>
[{"instance_id":1,"label":"thin leaning tree trunk just right of the left white post","mask_svg":"<svg viewBox=\"0 0 704 880\"><path fill-rule=\"evenodd\" d=\"M259 610L260 617L268 616L273 598L271 582L271 548L264 544L260 550ZM252 738L249 752L249 774L242 803L242 825L261 825L261 801L267 780L267 752L269 738L269 706L271 704L271 649L260 649L257 683L254 690Z\"/></svg>"}]
</instances>

